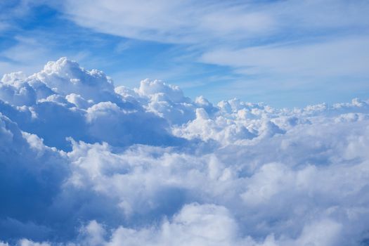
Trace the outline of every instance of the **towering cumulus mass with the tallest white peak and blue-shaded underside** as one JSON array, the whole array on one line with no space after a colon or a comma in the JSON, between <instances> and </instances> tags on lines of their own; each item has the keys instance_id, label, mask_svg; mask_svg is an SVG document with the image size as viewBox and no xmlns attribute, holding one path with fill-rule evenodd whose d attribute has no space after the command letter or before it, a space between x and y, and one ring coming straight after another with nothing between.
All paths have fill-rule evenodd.
<instances>
[{"instance_id":1,"label":"towering cumulus mass with the tallest white peak and blue-shaded underside","mask_svg":"<svg viewBox=\"0 0 369 246\"><path fill-rule=\"evenodd\" d=\"M135 98L126 100L115 93L111 79L103 72L84 70L66 58L47 63L44 70L30 77L4 75L1 82L1 100L12 111L7 116L23 130L44 138L47 145L65 150L67 137L119 146L181 142L165 134L169 126L162 117L146 112ZM22 110L16 108L20 106Z\"/></svg>"}]
</instances>

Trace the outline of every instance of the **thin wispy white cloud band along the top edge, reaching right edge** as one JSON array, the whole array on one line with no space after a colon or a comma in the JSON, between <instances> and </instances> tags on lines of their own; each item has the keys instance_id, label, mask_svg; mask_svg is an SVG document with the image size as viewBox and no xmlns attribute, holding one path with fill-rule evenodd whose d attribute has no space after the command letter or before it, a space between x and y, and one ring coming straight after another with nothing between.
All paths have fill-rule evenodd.
<instances>
[{"instance_id":1,"label":"thin wispy white cloud band along the top edge, reaching right edge","mask_svg":"<svg viewBox=\"0 0 369 246\"><path fill-rule=\"evenodd\" d=\"M240 41L291 31L363 28L368 24L358 1L66 1L71 20L98 32L151 41L193 43ZM329 13L329 15L327 15ZM342 15L345 13L345 15ZM344 16L344 18L342 18Z\"/></svg>"}]
</instances>

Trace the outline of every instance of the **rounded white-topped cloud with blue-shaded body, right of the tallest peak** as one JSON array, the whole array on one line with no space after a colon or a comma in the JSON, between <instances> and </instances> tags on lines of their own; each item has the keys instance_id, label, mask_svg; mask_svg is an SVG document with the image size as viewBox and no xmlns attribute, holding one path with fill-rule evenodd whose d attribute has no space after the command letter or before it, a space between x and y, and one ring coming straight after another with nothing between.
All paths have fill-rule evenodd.
<instances>
[{"instance_id":1,"label":"rounded white-topped cloud with blue-shaded body, right of the tallest peak","mask_svg":"<svg viewBox=\"0 0 369 246\"><path fill-rule=\"evenodd\" d=\"M85 117L87 134L96 141L111 145L173 145L180 142L167 131L167 122L150 112L128 111L115 103L103 102L88 108Z\"/></svg>"}]
</instances>

